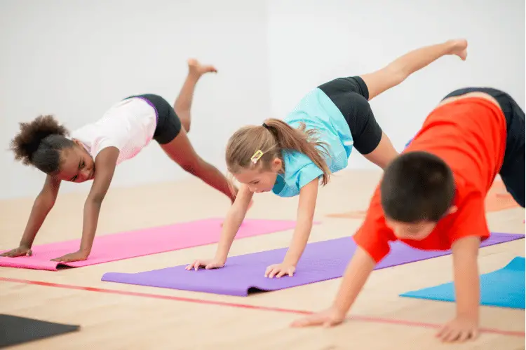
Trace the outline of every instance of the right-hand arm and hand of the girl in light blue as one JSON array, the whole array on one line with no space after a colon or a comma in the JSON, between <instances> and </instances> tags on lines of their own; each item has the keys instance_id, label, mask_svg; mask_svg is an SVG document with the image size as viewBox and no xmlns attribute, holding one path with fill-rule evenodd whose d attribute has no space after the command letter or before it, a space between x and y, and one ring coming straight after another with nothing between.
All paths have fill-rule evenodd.
<instances>
[{"instance_id":1,"label":"right-hand arm and hand of the girl in light blue","mask_svg":"<svg viewBox=\"0 0 526 350\"><path fill-rule=\"evenodd\" d=\"M288 274L292 276L296 269L299 258L302 257L307 241L312 230L314 211L316 210L316 198L318 197L318 178L307 183L299 192L299 204L297 209L297 224L292 235L292 242L287 254L281 264L267 267L265 276L273 278Z\"/></svg>"}]
</instances>

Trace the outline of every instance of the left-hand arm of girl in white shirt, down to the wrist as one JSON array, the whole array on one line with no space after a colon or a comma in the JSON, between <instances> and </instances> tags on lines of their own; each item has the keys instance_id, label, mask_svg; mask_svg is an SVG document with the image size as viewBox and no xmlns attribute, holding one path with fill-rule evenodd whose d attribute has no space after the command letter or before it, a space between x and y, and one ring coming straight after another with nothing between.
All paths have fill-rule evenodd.
<instances>
[{"instance_id":1,"label":"left-hand arm of girl in white shirt, down to the wrist","mask_svg":"<svg viewBox=\"0 0 526 350\"><path fill-rule=\"evenodd\" d=\"M39 232L43 222L55 205L59 188L60 179L47 175L43 188L39 195L36 196L31 214L29 214L29 220L27 221L24 234L22 235L22 239L20 239L20 246L26 248L33 246L36 233Z\"/></svg>"}]
</instances>

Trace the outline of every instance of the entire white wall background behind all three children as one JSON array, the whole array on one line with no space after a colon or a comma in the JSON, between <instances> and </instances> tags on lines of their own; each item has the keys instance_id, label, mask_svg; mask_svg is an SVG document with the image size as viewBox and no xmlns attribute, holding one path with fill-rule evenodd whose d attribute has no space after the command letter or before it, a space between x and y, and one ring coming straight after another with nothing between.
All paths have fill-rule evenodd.
<instances>
[{"instance_id":1,"label":"entire white wall background behind all three children","mask_svg":"<svg viewBox=\"0 0 526 350\"><path fill-rule=\"evenodd\" d=\"M198 83L189 135L222 171L224 145L241 125L283 118L326 80L448 38L468 38L466 62L444 57L372 102L398 149L457 87L499 87L524 108L524 14L521 0L0 0L0 198L33 197L44 179L4 151L18 122L54 113L74 129L130 94L173 102L188 57L219 70ZM356 153L349 167L372 166ZM119 166L112 186L183 176L152 143Z\"/></svg>"}]
</instances>

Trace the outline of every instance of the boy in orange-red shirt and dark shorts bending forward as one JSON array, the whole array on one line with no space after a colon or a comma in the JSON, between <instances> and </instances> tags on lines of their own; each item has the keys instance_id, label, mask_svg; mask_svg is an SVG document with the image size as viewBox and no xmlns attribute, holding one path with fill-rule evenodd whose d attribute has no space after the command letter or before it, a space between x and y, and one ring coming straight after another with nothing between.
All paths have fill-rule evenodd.
<instances>
[{"instance_id":1,"label":"boy in orange-red shirt and dark shorts bending forward","mask_svg":"<svg viewBox=\"0 0 526 350\"><path fill-rule=\"evenodd\" d=\"M478 248L490 237L484 200L495 176L525 207L525 113L505 92L456 90L426 118L405 151L385 169L357 249L332 307L292 326L337 325L375 265L400 240L423 250L452 249L457 316L440 329L443 341L478 335Z\"/></svg>"}]
</instances>

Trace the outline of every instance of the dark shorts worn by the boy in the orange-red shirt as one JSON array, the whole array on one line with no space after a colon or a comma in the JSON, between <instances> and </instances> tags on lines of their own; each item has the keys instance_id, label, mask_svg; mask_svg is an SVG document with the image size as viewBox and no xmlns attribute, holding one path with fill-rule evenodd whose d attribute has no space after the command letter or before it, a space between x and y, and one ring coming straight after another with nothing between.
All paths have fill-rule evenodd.
<instances>
[{"instance_id":1,"label":"dark shorts worn by the boy in the orange-red shirt","mask_svg":"<svg viewBox=\"0 0 526 350\"><path fill-rule=\"evenodd\" d=\"M447 97L460 96L468 92L485 92L499 102L506 118L506 151L499 172L506 190L513 199L525 207L525 125L524 111L506 92L491 87L466 87L447 94ZM488 140L491 141L491 140Z\"/></svg>"}]
</instances>

